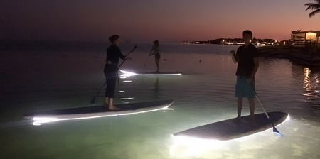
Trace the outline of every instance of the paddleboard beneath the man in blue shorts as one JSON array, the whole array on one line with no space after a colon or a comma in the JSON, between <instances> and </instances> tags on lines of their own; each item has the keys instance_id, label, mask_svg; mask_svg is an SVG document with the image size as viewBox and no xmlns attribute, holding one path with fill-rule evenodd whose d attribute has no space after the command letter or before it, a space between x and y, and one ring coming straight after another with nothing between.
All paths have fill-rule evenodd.
<instances>
[{"instance_id":1,"label":"paddleboard beneath the man in blue shorts","mask_svg":"<svg viewBox=\"0 0 320 159\"><path fill-rule=\"evenodd\" d=\"M289 119L289 114L280 111L268 112L268 115L270 116L270 119L272 119L274 126ZM265 131L269 128L272 128L272 125L265 113L262 113L255 114L255 124L253 126L250 124L250 116L242 116L241 121L238 122L234 121L234 119L228 119L191 128L186 131L174 133L173 135L227 141Z\"/></svg>"}]
</instances>

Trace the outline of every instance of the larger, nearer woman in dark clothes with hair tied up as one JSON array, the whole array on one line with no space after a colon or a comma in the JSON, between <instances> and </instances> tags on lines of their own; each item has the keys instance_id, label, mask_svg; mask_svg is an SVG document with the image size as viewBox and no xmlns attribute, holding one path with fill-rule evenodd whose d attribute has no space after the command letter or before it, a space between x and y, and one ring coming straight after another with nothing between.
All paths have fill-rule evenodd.
<instances>
[{"instance_id":1,"label":"larger, nearer woman in dark clothes with hair tied up","mask_svg":"<svg viewBox=\"0 0 320 159\"><path fill-rule=\"evenodd\" d=\"M119 48L120 45L120 37L119 35L112 35L109 37L110 45L107 48L107 58L105 60L105 79L107 82L107 89L105 90L105 106L109 110L118 110L119 108L113 105L113 97L114 97L114 89L117 83L117 72L118 72L118 63L120 58L124 60L130 53L127 55L123 55Z\"/></svg>"}]
</instances>

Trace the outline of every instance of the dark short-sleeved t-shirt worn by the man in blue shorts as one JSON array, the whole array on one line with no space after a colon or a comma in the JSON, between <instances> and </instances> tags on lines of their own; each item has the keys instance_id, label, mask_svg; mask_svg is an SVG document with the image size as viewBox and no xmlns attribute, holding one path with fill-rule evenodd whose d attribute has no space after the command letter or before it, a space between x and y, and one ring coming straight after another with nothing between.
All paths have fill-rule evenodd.
<instances>
[{"instance_id":1,"label":"dark short-sleeved t-shirt worn by the man in blue shorts","mask_svg":"<svg viewBox=\"0 0 320 159\"><path fill-rule=\"evenodd\" d=\"M254 45L250 44L245 48L244 45L240 46L235 55L238 59L238 67L235 75L249 77L255 67L254 58L259 57L258 50Z\"/></svg>"}]
</instances>

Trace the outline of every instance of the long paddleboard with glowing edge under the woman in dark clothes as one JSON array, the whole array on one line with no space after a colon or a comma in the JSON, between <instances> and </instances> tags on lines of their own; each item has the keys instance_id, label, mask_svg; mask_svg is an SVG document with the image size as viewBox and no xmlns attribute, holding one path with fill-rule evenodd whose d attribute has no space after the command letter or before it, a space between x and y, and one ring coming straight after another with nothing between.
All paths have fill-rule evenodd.
<instances>
[{"instance_id":1,"label":"long paddleboard with glowing edge under the woman in dark clothes","mask_svg":"<svg viewBox=\"0 0 320 159\"><path fill-rule=\"evenodd\" d=\"M26 119L32 119L34 125L53 121L92 119L106 116L120 116L129 114L145 113L149 111L158 111L169 109L174 100L163 100L156 102L141 102L129 104L114 104L119 107L119 111L108 111L105 106L85 106L70 109L57 109L50 111L38 111L25 114Z\"/></svg>"}]
</instances>

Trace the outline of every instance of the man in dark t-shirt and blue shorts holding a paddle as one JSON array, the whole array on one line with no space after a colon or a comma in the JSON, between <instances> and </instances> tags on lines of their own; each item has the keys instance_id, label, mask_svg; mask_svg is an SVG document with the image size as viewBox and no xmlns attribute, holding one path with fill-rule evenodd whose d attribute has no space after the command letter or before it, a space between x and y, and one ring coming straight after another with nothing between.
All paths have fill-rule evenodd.
<instances>
[{"instance_id":1,"label":"man in dark t-shirt and blue shorts holding a paddle","mask_svg":"<svg viewBox=\"0 0 320 159\"><path fill-rule=\"evenodd\" d=\"M236 53L234 50L230 51L233 62L238 62L237 71L235 72L237 76L235 97L238 97L238 116L235 121L240 121L242 99L247 98L249 101L251 122L253 124L255 114L255 101L253 100L255 98L255 73L259 67L259 55L257 48L251 43L251 31L243 31L242 40L245 45L240 46Z\"/></svg>"}]
</instances>

